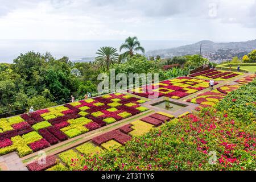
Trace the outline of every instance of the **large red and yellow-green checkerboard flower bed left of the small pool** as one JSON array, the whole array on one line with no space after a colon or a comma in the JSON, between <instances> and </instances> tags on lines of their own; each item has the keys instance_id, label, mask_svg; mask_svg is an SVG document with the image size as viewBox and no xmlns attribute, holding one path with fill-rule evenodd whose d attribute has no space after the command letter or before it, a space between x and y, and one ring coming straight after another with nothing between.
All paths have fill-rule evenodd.
<instances>
[{"instance_id":1,"label":"large red and yellow-green checkerboard flower bed left of the small pool","mask_svg":"<svg viewBox=\"0 0 256 182\"><path fill-rule=\"evenodd\" d=\"M0 119L0 155L17 151L22 157L129 118L148 110L140 105L143 102L146 101L115 93Z\"/></svg>"}]
</instances>

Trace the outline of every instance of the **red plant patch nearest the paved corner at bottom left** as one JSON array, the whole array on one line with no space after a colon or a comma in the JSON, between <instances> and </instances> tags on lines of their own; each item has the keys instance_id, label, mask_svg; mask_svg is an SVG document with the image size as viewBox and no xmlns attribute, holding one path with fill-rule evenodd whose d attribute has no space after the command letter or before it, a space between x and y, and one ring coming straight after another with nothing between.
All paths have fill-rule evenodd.
<instances>
[{"instance_id":1,"label":"red plant patch nearest the paved corner at bottom left","mask_svg":"<svg viewBox=\"0 0 256 182\"><path fill-rule=\"evenodd\" d=\"M44 164L44 162L40 162L38 163L38 161L35 161L33 163L30 163L27 165L28 170L30 171L44 171L52 166L55 166L57 159L55 156L47 156L46 157L46 163Z\"/></svg>"}]
</instances>

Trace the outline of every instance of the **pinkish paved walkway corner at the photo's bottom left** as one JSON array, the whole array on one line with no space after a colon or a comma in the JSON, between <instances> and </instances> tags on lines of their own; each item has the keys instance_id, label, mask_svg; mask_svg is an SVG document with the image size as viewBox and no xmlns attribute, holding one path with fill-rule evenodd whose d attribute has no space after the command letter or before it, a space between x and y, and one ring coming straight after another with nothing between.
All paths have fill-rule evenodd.
<instances>
[{"instance_id":1,"label":"pinkish paved walkway corner at the photo's bottom left","mask_svg":"<svg viewBox=\"0 0 256 182\"><path fill-rule=\"evenodd\" d=\"M28 171L16 152L0 157L1 171Z\"/></svg>"}]
</instances>

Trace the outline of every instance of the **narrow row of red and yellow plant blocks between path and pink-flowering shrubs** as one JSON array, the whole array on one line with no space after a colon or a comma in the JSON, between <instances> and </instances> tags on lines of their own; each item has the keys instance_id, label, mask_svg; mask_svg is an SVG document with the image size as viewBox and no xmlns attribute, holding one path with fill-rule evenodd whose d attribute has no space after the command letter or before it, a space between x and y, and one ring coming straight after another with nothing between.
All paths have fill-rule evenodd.
<instances>
[{"instance_id":1,"label":"narrow row of red and yellow plant blocks between path and pink-flowering shrubs","mask_svg":"<svg viewBox=\"0 0 256 182\"><path fill-rule=\"evenodd\" d=\"M171 119L174 119L173 115L166 114L163 112L151 114L150 118L157 118L162 123L168 122ZM148 117L147 117L148 118ZM144 119L144 118L143 118ZM143 134L150 132L150 130L154 128L154 125L151 125L148 122L143 122L141 120L134 121L128 125L122 126L117 130L109 131L108 133L102 134L98 137L94 137L89 142L81 144L76 147L75 150L67 150L59 154L59 158L61 162L63 162L68 167L73 166L74 163L79 163L82 155L90 155L96 153L102 153L104 150L114 150L126 142L131 140L131 137L138 137ZM78 152L77 152L78 151ZM80 154L81 153L81 154ZM56 162L56 156L48 156L46 158L46 164L42 167L38 166L38 162L33 162L28 164L28 169L30 171L43 171L43 170L65 170L67 169L63 164ZM75 160L76 159L76 160ZM49 161L48 161L49 160Z\"/></svg>"}]
</instances>

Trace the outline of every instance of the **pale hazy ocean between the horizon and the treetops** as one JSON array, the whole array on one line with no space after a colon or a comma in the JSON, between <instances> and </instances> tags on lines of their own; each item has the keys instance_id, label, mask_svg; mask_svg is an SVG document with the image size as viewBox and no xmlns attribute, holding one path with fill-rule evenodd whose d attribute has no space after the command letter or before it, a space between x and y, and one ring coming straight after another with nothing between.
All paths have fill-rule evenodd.
<instances>
[{"instance_id":1,"label":"pale hazy ocean between the horizon and the treetops","mask_svg":"<svg viewBox=\"0 0 256 182\"><path fill-rule=\"evenodd\" d=\"M13 63L13 60L28 51L40 53L50 52L59 59L63 56L72 61L89 61L96 56L97 49L103 46L112 46L118 49L124 40L0 40L0 63ZM180 40L140 40L146 52L155 49L166 49L193 43Z\"/></svg>"}]
</instances>

